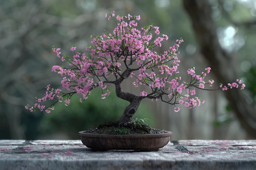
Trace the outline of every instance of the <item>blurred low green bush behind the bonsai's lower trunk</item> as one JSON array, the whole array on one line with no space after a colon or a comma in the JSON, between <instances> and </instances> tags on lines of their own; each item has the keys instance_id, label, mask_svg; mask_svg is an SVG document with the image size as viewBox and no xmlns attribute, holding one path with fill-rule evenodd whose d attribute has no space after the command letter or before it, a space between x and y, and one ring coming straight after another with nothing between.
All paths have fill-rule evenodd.
<instances>
[{"instance_id":1,"label":"blurred low green bush behind the bonsai's lower trunk","mask_svg":"<svg viewBox=\"0 0 256 170\"><path fill-rule=\"evenodd\" d=\"M117 121L129 102L119 99L115 95L115 90L112 90L112 93L106 99L101 99L100 96L101 89L94 89L90 97L83 103L79 102L80 95L74 95L69 106L58 103L58 106L56 106L58 109L49 114L34 113L45 114L40 124L40 132L43 135L63 132L70 139L78 139L77 132L81 130L97 128L99 124L105 121ZM143 104L140 104L135 116L147 117L148 124L154 126L153 113ZM141 120L144 121L144 119ZM137 121L141 120L137 118Z\"/></svg>"}]
</instances>

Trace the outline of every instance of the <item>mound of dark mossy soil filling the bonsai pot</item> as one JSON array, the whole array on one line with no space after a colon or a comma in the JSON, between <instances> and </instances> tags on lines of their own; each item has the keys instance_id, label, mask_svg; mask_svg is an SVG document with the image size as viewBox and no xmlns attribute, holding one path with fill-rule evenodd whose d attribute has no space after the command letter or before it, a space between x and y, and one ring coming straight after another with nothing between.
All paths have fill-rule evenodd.
<instances>
[{"instance_id":1,"label":"mound of dark mossy soil filling the bonsai pot","mask_svg":"<svg viewBox=\"0 0 256 170\"><path fill-rule=\"evenodd\" d=\"M108 135L129 135L129 134L159 134L166 133L164 130L153 129L148 125L136 123L121 123L119 121L106 121L95 129L85 130L85 133L108 134Z\"/></svg>"}]
</instances>

